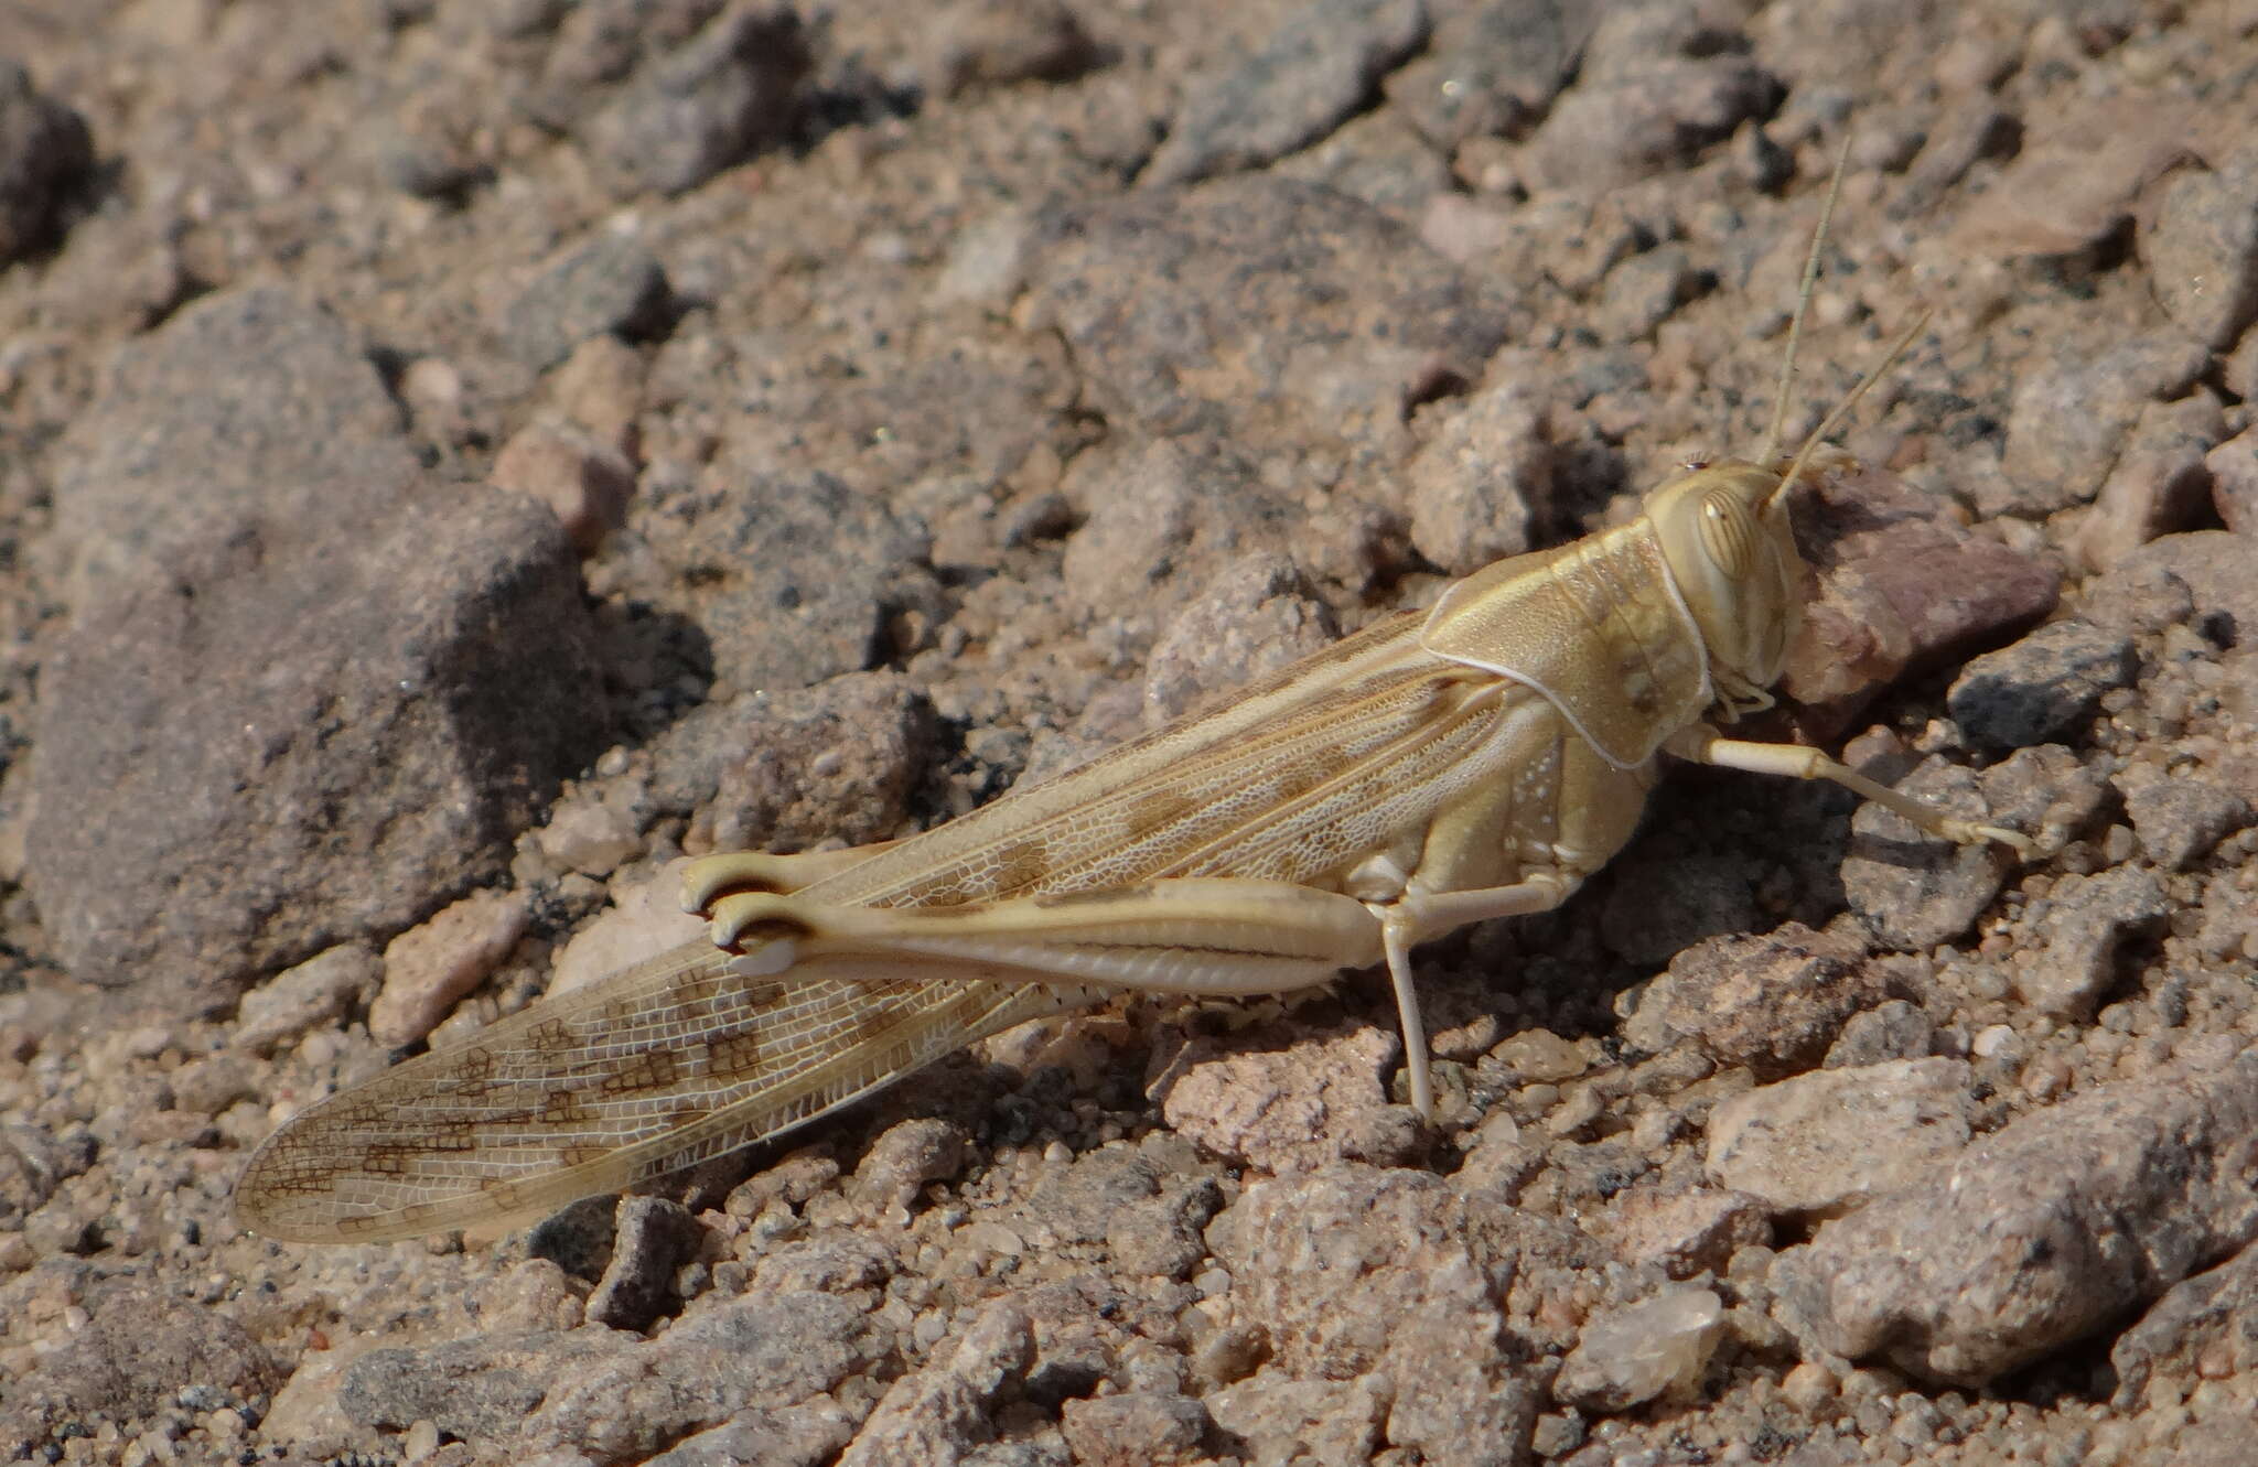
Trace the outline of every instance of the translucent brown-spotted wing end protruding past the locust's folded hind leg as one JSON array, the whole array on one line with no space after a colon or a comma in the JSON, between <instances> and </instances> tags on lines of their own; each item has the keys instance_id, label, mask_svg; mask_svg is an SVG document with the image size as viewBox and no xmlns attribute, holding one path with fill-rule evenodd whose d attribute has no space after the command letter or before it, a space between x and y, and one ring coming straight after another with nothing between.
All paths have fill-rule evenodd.
<instances>
[{"instance_id":1,"label":"translucent brown-spotted wing end protruding past the locust's folded hind leg","mask_svg":"<svg viewBox=\"0 0 2258 1467\"><path fill-rule=\"evenodd\" d=\"M251 1158L237 1216L307 1244L544 1216L1095 998L973 980L856 982L822 959L781 977L725 964L718 948L684 943L305 1108Z\"/></svg>"}]
</instances>

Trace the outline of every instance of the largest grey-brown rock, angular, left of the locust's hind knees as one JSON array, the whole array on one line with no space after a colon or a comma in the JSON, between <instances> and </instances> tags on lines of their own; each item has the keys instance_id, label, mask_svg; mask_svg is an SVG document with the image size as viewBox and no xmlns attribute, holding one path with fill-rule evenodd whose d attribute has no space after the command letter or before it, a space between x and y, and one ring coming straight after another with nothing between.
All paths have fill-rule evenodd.
<instances>
[{"instance_id":1,"label":"largest grey-brown rock, angular, left of the locust's hind knees","mask_svg":"<svg viewBox=\"0 0 2258 1467\"><path fill-rule=\"evenodd\" d=\"M449 485L391 526L318 517L165 564L45 677L34 891L88 980L156 973L165 1002L205 1004L388 937L495 873L495 842L601 747L546 510Z\"/></svg>"}]
</instances>

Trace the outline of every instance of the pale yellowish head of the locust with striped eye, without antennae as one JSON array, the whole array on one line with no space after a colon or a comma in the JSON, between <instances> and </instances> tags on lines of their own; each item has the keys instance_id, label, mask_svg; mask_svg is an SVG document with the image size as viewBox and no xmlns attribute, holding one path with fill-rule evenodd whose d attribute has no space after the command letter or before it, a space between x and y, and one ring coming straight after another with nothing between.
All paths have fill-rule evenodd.
<instances>
[{"instance_id":1,"label":"pale yellowish head of the locust with striped eye, without antennae","mask_svg":"<svg viewBox=\"0 0 2258 1467\"><path fill-rule=\"evenodd\" d=\"M1802 616L1804 560L1788 528L1786 478L1725 460L1671 478L1646 517L1700 627L1723 718L1770 706Z\"/></svg>"}]
</instances>

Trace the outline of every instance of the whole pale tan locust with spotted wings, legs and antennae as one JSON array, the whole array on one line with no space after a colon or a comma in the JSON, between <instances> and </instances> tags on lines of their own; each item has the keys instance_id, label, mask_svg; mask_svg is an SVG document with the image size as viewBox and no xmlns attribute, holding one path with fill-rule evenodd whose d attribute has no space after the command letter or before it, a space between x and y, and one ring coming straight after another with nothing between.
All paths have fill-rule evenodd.
<instances>
[{"instance_id":1,"label":"whole pale tan locust with spotted wings, legs and antennae","mask_svg":"<svg viewBox=\"0 0 2258 1467\"><path fill-rule=\"evenodd\" d=\"M1788 492L1890 361L1782 463L1773 427L1624 526L1515 555L1054 781L899 842L686 867L684 943L323 1099L237 1216L285 1241L528 1221L777 1135L953 1049L1127 993L1260 995L1386 964L1432 1113L1411 948L1547 912L1633 835L1657 756L1827 779L2001 842L1818 749L1727 738L1770 706L1804 562ZM1915 323L1890 359L1910 345Z\"/></svg>"}]
</instances>

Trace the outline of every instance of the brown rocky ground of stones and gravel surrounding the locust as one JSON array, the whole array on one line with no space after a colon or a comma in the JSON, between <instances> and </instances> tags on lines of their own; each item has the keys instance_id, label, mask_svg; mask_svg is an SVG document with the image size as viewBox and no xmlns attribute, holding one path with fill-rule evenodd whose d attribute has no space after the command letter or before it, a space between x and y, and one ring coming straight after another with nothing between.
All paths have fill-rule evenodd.
<instances>
[{"instance_id":1,"label":"brown rocky ground of stones and gravel surrounding the locust","mask_svg":"<svg viewBox=\"0 0 2258 1467\"><path fill-rule=\"evenodd\" d=\"M0 0L0 1453L2231 1462L2258 7ZM1563 912L504 1239L282 1117L1791 429L1768 736Z\"/></svg>"}]
</instances>

